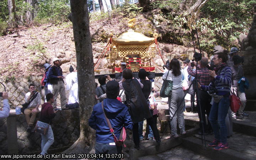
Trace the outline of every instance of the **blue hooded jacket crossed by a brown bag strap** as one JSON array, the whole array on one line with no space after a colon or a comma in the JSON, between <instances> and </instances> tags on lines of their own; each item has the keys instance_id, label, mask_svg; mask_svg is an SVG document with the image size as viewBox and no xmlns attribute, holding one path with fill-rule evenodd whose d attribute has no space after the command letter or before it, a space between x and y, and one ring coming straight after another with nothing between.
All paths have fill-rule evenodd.
<instances>
[{"instance_id":1,"label":"blue hooded jacket crossed by a brown bag strap","mask_svg":"<svg viewBox=\"0 0 256 160\"><path fill-rule=\"evenodd\" d=\"M103 106L107 118L110 120L111 126L117 139L120 137L122 127L132 129L133 123L130 118L128 107L117 99L106 98L103 100ZM97 103L93 107L89 126L96 130L97 143L113 143L114 138L108 127L107 120L104 116L101 103Z\"/></svg>"}]
</instances>

